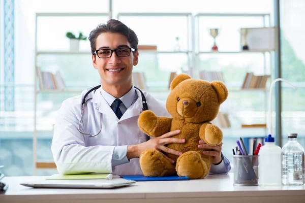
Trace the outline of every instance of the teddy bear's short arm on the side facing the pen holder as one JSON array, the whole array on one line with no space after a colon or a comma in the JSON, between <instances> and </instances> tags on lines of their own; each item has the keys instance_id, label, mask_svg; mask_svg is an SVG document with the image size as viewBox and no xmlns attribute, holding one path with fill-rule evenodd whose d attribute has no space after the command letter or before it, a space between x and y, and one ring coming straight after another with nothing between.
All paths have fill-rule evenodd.
<instances>
[{"instance_id":1,"label":"teddy bear's short arm on the side facing the pen holder","mask_svg":"<svg viewBox=\"0 0 305 203\"><path fill-rule=\"evenodd\" d=\"M218 145L222 142L223 133L216 125L203 124L199 130L199 137L208 145Z\"/></svg>"}]
</instances>

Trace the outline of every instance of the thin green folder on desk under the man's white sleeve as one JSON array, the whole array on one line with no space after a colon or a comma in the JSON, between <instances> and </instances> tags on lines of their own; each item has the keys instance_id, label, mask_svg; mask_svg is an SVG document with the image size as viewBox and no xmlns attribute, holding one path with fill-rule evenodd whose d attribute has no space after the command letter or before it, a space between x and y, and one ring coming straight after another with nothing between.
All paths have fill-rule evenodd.
<instances>
[{"instance_id":1,"label":"thin green folder on desk under the man's white sleeve","mask_svg":"<svg viewBox=\"0 0 305 203\"><path fill-rule=\"evenodd\" d=\"M46 180L81 180L81 179L112 179L112 174L78 174L78 175L60 175L54 174Z\"/></svg>"}]
</instances>

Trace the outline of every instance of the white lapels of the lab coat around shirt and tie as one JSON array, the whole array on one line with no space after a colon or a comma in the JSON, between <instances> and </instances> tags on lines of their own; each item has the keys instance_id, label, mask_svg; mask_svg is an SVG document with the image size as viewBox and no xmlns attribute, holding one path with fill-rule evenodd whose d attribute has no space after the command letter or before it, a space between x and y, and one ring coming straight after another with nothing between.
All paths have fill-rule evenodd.
<instances>
[{"instance_id":1,"label":"white lapels of the lab coat around shirt and tie","mask_svg":"<svg viewBox=\"0 0 305 203\"><path fill-rule=\"evenodd\" d=\"M125 120L128 118L134 117L134 116L138 116L143 111L141 93L139 92L139 90L137 90L137 89L135 89L135 90L136 90L137 96L138 96L136 102L126 110L126 112L123 114L123 116L120 119L118 119L116 117L115 113L113 112L113 110L111 109L111 107L109 106L109 104L107 103L105 98L102 96L100 89L97 89L95 91L91 102L93 104L96 104L95 109L97 111L99 111L100 113L110 116L110 117L116 119L117 121L118 120L122 121L122 120Z\"/></svg>"}]
</instances>

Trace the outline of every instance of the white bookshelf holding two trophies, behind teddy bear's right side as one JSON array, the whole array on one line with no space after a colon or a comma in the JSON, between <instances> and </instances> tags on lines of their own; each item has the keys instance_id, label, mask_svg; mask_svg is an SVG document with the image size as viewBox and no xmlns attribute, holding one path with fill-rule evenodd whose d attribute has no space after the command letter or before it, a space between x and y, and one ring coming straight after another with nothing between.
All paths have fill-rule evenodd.
<instances>
[{"instance_id":1,"label":"white bookshelf holding two trophies, behind teddy bear's right side","mask_svg":"<svg viewBox=\"0 0 305 203\"><path fill-rule=\"evenodd\" d=\"M252 74L252 76L254 76L253 78L250 78L249 79L249 73L248 72L251 72L247 69L245 69L245 72L246 74L242 77L238 77L239 81L241 81L241 84L240 85L236 85L235 83L232 84L232 83L226 83L226 86L228 88L228 91L229 91L229 94L233 94L233 95L240 95L240 94L253 94L253 95L256 95L256 96L262 96L263 97L263 104L262 104L262 111L264 112L264 121L262 123L242 123L243 120L240 120L240 126L239 127L231 127L230 123L228 122L224 122L225 121L225 116L226 116L226 113L223 113L223 112L220 112L220 114L223 114L223 115L218 115L217 116L217 120L216 122L219 122L220 121L223 121L222 124L220 123L221 127L223 128L223 131L224 131L224 134L226 134L226 136L229 136L229 137L234 137L234 136L246 136L246 135L249 135L249 136L262 136L264 134L267 133L267 130L266 130L266 124L265 122L267 122L267 99L268 99L268 91L266 89L266 86L269 82L269 78L270 78L270 74L268 73L271 73L271 67L272 67L272 52L275 51L275 49L256 49L256 50L241 50L241 48L239 48L239 50L236 50L236 49L232 49L232 50L228 50L227 48L223 49L223 50L219 50L219 51L211 51L211 50L206 50L206 49L202 49L202 44L201 42L203 43L204 41L208 41L210 39L206 39L207 37L210 37L211 36L208 36L209 33L205 33L205 34L202 34L202 30L203 32L208 32L208 30L205 30L204 29L204 26L205 27L209 27L209 28L214 28L214 27L211 27L210 24L211 23L208 23L208 20L209 19L218 19L217 22L221 22L220 19L222 19L223 17L226 17L226 18L230 18L232 20L236 20L237 18L255 18L257 19L257 21L260 21L261 23L261 27L269 27L271 26L271 19L270 19L270 14L268 13L237 13L237 14L230 14L230 13L198 13L194 16L194 32L193 32L193 38L194 38L194 70L193 72L196 73L196 75L198 75L201 79L204 79L202 77L204 77L202 74L203 71L210 71L210 70L202 70L202 67L201 67L201 61L200 61L200 58L211 58L211 57L220 57L220 56L236 56L236 58L238 57L243 57L243 56L248 56L248 57L252 57L252 55L258 55L260 58L262 58L262 61L261 63L263 64L263 66L260 67L261 69L261 72L262 74L261 75L256 75L256 74ZM239 22L239 21L237 21ZM222 23L222 22L221 22ZM221 23L216 23L218 24L221 24ZM236 23L237 24L237 23ZM235 25L235 24L234 24ZM243 24L243 26L245 26L245 24ZM239 28L243 27L242 25L239 26ZM220 26L221 27L221 26ZM247 27L247 25L246 25ZM259 27L259 26L258 26ZM216 27L215 27L216 28ZM234 26L234 28L232 27L226 27L227 28L227 31L229 29L236 29L236 25ZM220 28L220 32L222 31L221 30L222 28ZM225 28L223 28L225 30ZM233 33L232 30L230 30L231 32L230 33ZM237 29L234 30L235 32L237 32ZM222 33L221 34L223 36L226 35L226 33ZM204 37L202 37L204 36ZM240 36L240 33L239 33L239 36ZM227 36L225 36L227 37ZM223 38L224 39L227 39L228 40L228 37L227 38ZM216 43L217 43L217 46L219 48L222 48L221 47L221 44L218 42L218 40L220 41L220 39L216 39ZM222 41L224 42L224 41ZM234 41L235 42L235 41ZM241 42L241 41L240 41ZM204 43L203 43L204 44ZM206 44L204 44L206 45ZM241 44L240 44L240 47L241 47ZM270 61L268 61L270 60ZM214 72L222 72L222 70L218 70L216 68L216 70L212 70ZM206 76L206 75L205 75ZM211 79L211 76L206 76L207 79ZM223 78L226 78L226 77L223 77L222 75L218 75L217 73L212 75L212 78L214 77L214 80L221 80L223 81ZM229 77L229 76L227 76ZM233 76L230 76L230 77L234 77ZM248 79L247 79L248 77ZM233 85L233 86L231 86ZM253 93L252 93L253 92ZM238 97L238 96L235 96L235 97ZM238 98L237 98L238 99ZM239 99L238 99L239 100ZM242 105L242 103L238 102L237 101L233 101L233 103L238 103L240 105ZM231 101L230 101L231 102ZM228 110L230 111L230 110ZM234 112L235 113L235 112ZM229 112L230 114L230 112ZM255 119L254 119L255 120Z\"/></svg>"}]
</instances>

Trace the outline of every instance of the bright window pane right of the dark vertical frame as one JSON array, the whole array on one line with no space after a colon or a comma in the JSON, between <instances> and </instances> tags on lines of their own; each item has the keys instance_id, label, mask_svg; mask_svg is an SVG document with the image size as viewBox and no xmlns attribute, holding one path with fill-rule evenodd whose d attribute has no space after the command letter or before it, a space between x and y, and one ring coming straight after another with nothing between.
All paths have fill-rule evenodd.
<instances>
[{"instance_id":1,"label":"bright window pane right of the dark vertical frame","mask_svg":"<svg viewBox=\"0 0 305 203\"><path fill-rule=\"evenodd\" d=\"M296 90L282 82L282 144L288 133L298 133L298 142L305 146L305 31L301 19L305 5L301 0L280 1L281 8L281 65L282 78L291 82Z\"/></svg>"}]
</instances>

